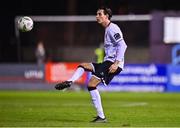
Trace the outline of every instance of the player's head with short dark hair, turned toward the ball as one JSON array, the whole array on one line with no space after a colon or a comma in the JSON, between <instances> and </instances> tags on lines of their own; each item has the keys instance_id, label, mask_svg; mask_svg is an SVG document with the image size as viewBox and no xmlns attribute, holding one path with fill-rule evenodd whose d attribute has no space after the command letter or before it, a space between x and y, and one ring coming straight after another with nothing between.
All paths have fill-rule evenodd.
<instances>
[{"instance_id":1,"label":"player's head with short dark hair, turned toward the ball","mask_svg":"<svg viewBox=\"0 0 180 128\"><path fill-rule=\"evenodd\" d=\"M100 7L97 10L96 20L98 23L103 24L104 22L110 21L112 17L112 11L107 7Z\"/></svg>"}]
</instances>

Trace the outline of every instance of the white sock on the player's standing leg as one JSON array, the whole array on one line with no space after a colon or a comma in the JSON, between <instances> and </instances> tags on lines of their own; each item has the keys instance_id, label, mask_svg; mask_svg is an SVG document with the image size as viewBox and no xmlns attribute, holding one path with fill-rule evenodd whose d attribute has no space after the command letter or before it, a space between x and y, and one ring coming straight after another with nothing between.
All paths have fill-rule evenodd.
<instances>
[{"instance_id":1,"label":"white sock on the player's standing leg","mask_svg":"<svg viewBox=\"0 0 180 128\"><path fill-rule=\"evenodd\" d=\"M97 89L89 91L91 94L92 102L94 104L94 107L96 108L97 115L101 118L105 118L102 104L101 104L101 96L99 94L99 91Z\"/></svg>"}]
</instances>

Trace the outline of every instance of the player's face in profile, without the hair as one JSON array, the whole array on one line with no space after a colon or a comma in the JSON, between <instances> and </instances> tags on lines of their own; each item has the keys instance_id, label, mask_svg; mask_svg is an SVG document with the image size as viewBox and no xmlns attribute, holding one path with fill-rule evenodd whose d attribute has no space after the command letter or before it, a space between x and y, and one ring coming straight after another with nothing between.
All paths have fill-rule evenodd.
<instances>
[{"instance_id":1,"label":"player's face in profile, without the hair","mask_svg":"<svg viewBox=\"0 0 180 128\"><path fill-rule=\"evenodd\" d=\"M104 14L104 10L97 11L96 20L99 24L103 24L108 19L108 16Z\"/></svg>"}]
</instances>

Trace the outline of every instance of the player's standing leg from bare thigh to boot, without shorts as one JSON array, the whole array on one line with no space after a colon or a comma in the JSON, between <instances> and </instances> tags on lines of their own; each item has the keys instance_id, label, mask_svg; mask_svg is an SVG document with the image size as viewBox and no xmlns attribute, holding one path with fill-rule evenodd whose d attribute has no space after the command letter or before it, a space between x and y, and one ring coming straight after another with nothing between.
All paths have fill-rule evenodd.
<instances>
[{"instance_id":1,"label":"player's standing leg from bare thigh to boot, without shorts","mask_svg":"<svg viewBox=\"0 0 180 128\"><path fill-rule=\"evenodd\" d=\"M101 96L99 94L98 89L96 88L100 82L100 79L98 79L95 76L92 76L88 84L88 91L90 92L93 105L97 111L97 117L92 122L106 122L106 118L101 103Z\"/></svg>"}]
</instances>

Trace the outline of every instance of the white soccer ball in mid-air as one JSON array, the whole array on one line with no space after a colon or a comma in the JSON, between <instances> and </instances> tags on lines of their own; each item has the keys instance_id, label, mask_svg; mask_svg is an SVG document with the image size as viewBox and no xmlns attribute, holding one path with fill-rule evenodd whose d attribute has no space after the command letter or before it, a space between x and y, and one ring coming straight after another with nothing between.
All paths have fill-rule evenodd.
<instances>
[{"instance_id":1,"label":"white soccer ball in mid-air","mask_svg":"<svg viewBox=\"0 0 180 128\"><path fill-rule=\"evenodd\" d=\"M31 31L33 28L33 20L28 16L20 17L18 20L18 29L21 32Z\"/></svg>"}]
</instances>

